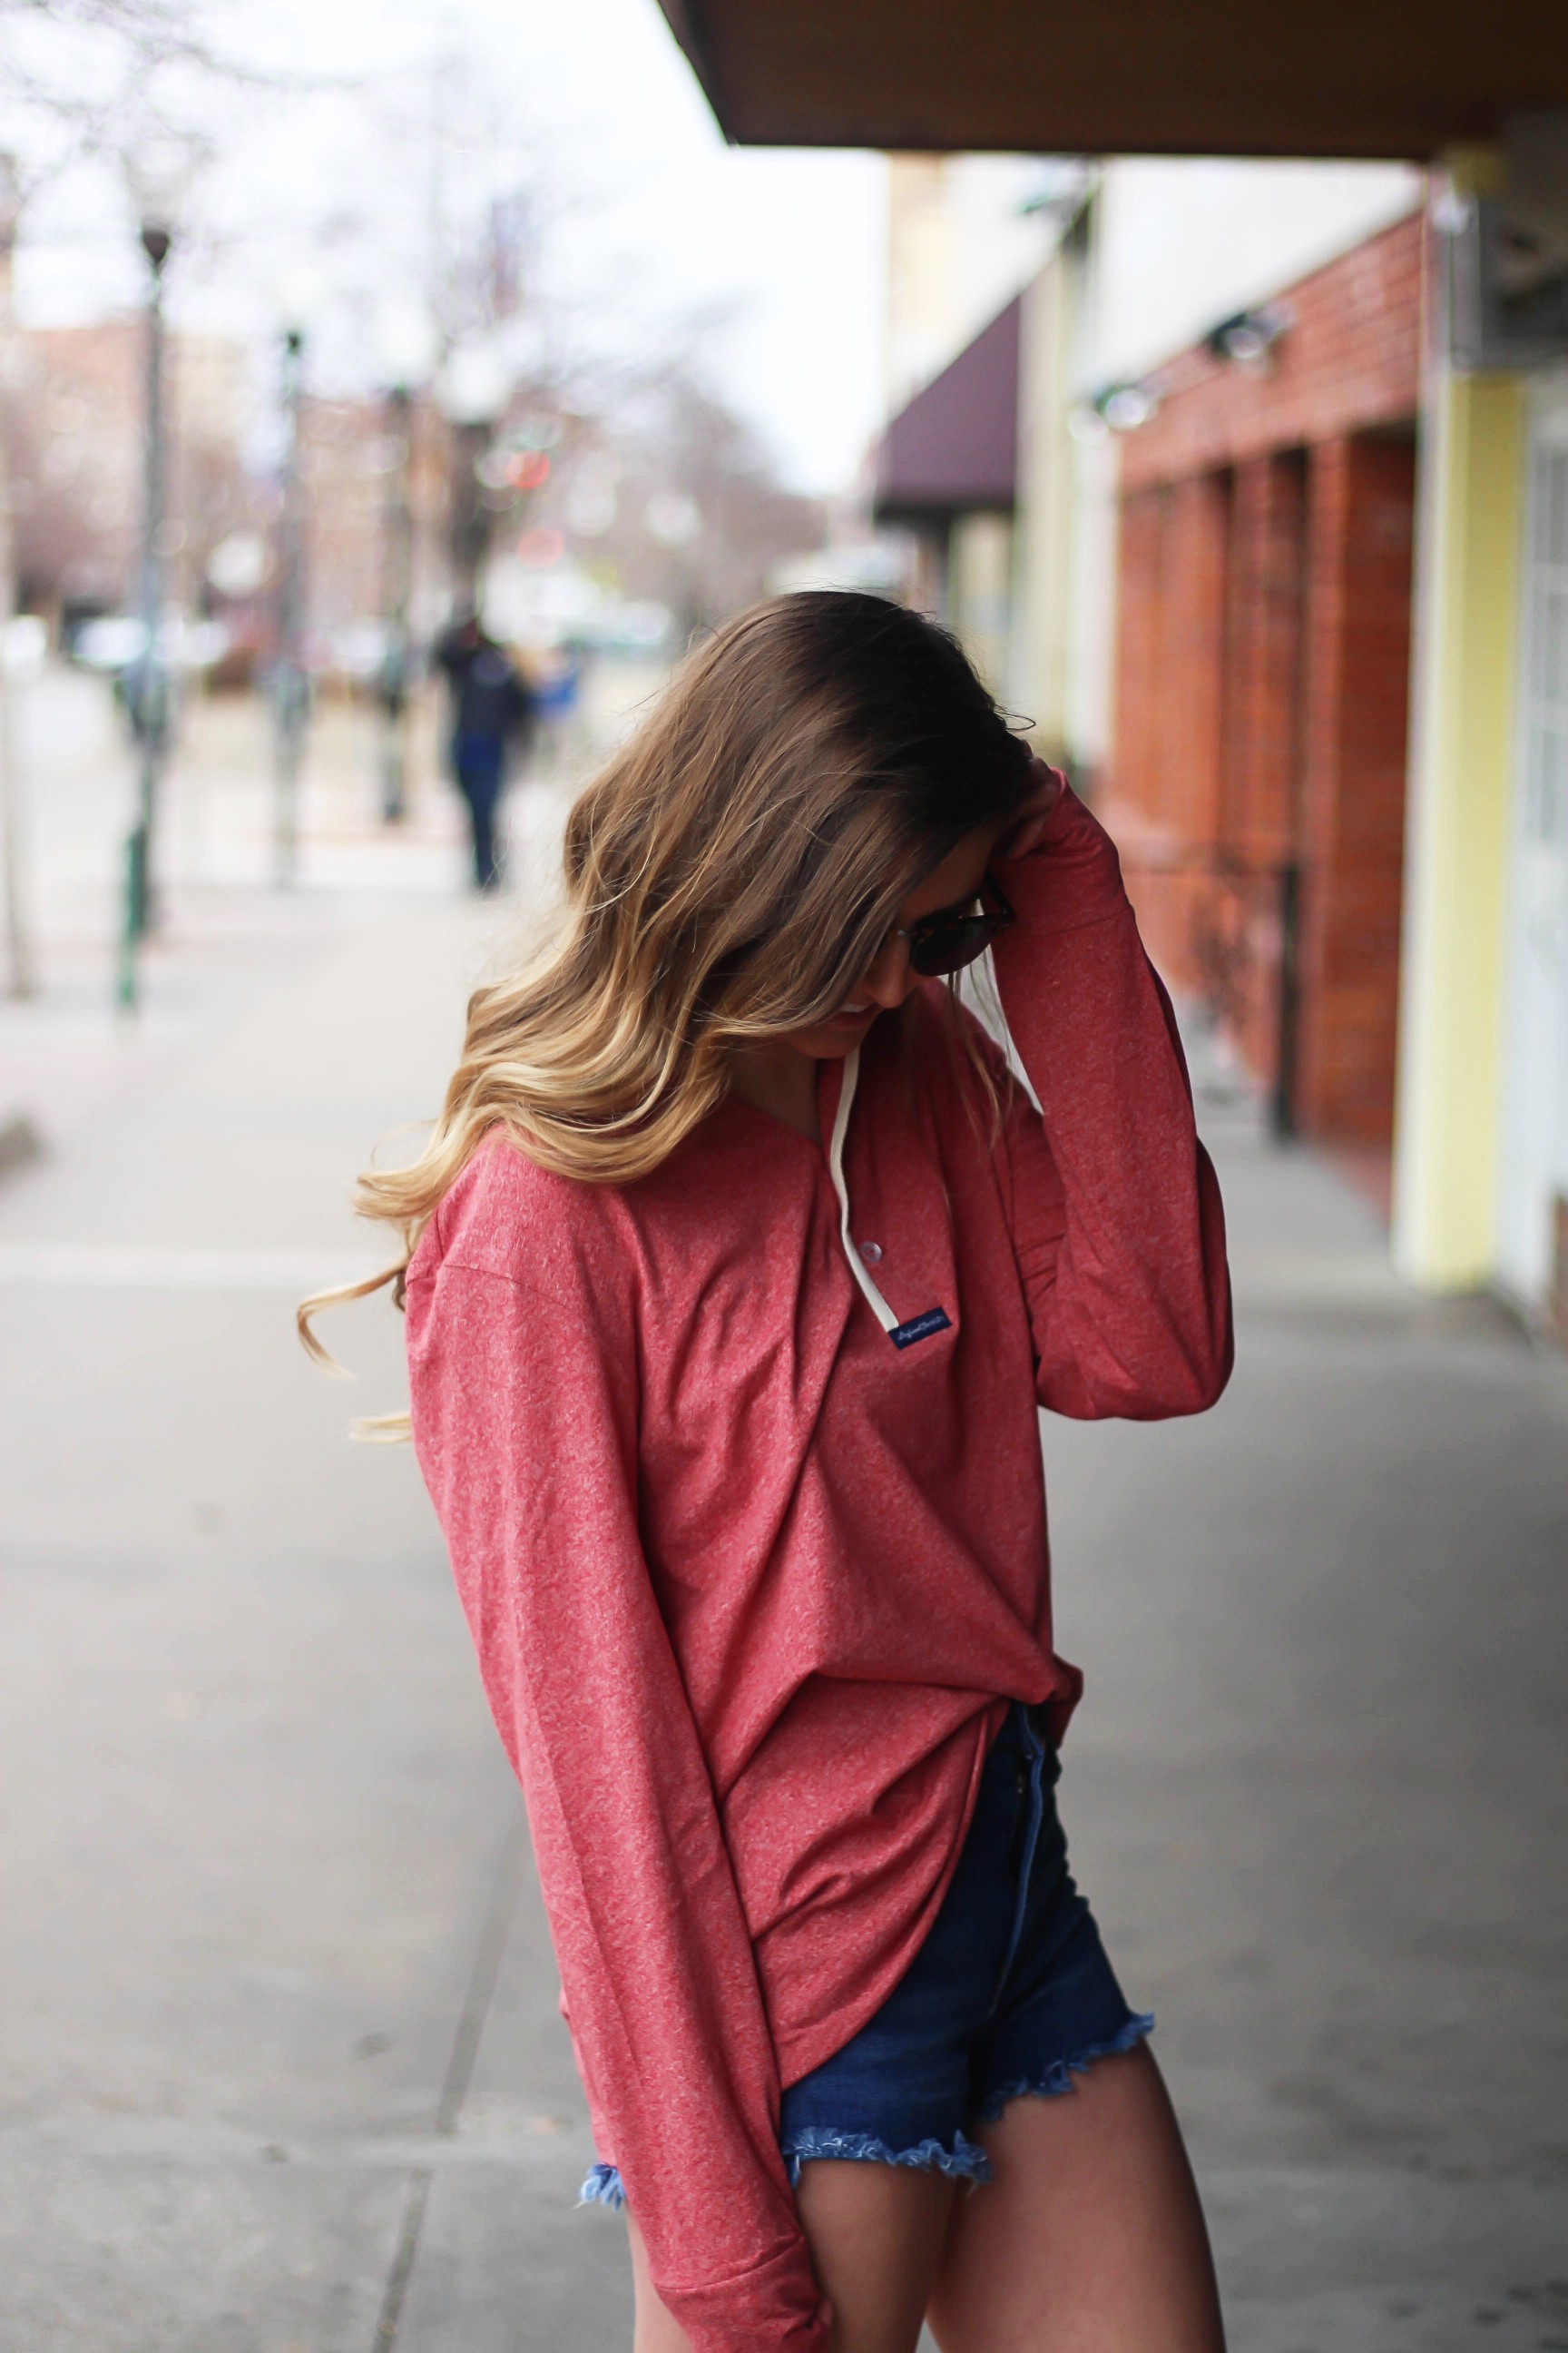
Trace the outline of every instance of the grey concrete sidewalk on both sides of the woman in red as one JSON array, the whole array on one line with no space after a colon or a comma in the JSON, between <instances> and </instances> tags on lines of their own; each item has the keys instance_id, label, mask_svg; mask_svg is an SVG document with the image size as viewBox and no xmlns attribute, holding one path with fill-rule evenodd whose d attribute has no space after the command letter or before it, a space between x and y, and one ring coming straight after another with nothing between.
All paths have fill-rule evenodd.
<instances>
[{"instance_id":1,"label":"grey concrete sidewalk on both sides of the woman in red","mask_svg":"<svg viewBox=\"0 0 1568 2353\"><path fill-rule=\"evenodd\" d=\"M240 901L235 901L240 904ZM244 901L249 906L249 901ZM517 1800L343 1193L505 908L254 918L223 1005L0 1191L0 2344L599 2353ZM1051 1424L1065 1812L1211 2200L1237 2353L1568 2346L1568 1381L1215 1111L1241 1360ZM1556 2007L1554 2007L1556 2005Z\"/></svg>"}]
</instances>

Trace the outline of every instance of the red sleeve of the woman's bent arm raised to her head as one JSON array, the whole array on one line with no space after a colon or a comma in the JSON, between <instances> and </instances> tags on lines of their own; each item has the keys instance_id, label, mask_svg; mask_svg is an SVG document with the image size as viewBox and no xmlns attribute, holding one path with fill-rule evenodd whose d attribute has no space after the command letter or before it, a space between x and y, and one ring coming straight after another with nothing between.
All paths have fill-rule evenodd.
<instances>
[{"instance_id":1,"label":"red sleeve of the woman's bent arm raised to her head","mask_svg":"<svg viewBox=\"0 0 1568 2353\"><path fill-rule=\"evenodd\" d=\"M1001 1141L1039 1402L1204 1412L1234 1353L1225 1212L1117 849L1063 786L1041 842L997 873L1018 913L997 986L1039 1099L1013 1089Z\"/></svg>"}]
</instances>

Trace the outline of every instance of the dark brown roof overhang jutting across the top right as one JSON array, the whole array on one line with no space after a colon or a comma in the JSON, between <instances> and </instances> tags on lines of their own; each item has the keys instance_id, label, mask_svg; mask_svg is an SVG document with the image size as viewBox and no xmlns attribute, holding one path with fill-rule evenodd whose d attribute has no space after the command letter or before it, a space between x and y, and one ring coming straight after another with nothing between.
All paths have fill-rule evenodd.
<instances>
[{"instance_id":1,"label":"dark brown roof overhang jutting across the top right","mask_svg":"<svg viewBox=\"0 0 1568 2353\"><path fill-rule=\"evenodd\" d=\"M1563 0L663 0L745 146L1436 155L1568 106Z\"/></svg>"}]
</instances>

